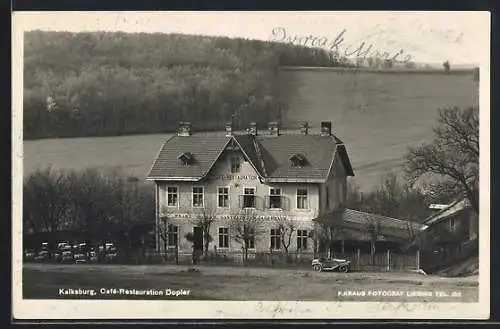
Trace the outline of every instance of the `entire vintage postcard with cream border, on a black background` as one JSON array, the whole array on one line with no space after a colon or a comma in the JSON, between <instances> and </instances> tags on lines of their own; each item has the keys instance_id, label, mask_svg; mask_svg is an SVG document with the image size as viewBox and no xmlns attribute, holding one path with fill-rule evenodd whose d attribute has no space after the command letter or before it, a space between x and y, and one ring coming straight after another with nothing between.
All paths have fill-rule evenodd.
<instances>
[{"instance_id":1,"label":"entire vintage postcard with cream border, on a black background","mask_svg":"<svg viewBox=\"0 0 500 329\"><path fill-rule=\"evenodd\" d=\"M15 12L13 317L488 318L489 42L478 11Z\"/></svg>"}]
</instances>

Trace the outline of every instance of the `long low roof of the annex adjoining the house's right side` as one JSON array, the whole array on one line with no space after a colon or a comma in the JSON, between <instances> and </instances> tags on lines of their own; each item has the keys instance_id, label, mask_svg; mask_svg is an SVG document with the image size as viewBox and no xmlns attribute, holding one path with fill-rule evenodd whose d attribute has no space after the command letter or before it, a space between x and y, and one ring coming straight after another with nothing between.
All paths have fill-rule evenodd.
<instances>
[{"instance_id":1,"label":"long low roof of the annex adjoining the house's right side","mask_svg":"<svg viewBox=\"0 0 500 329\"><path fill-rule=\"evenodd\" d=\"M369 230L370 226L375 225L378 227L379 234L401 239L410 239L414 234L427 228L424 224L354 209L340 209L317 218L315 221L323 221L331 223L333 226L365 231Z\"/></svg>"}]
</instances>

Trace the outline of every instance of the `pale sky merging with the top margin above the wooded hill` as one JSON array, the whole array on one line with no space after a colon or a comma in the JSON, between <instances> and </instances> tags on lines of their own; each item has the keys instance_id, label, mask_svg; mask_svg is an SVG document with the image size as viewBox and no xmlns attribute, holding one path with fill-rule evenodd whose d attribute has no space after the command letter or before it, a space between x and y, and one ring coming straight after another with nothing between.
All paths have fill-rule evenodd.
<instances>
[{"instance_id":1,"label":"pale sky merging with the top margin above the wooded hill","mask_svg":"<svg viewBox=\"0 0 500 329\"><path fill-rule=\"evenodd\" d=\"M487 61L490 40L490 15L478 11L17 12L13 24L14 32L162 32L315 42L327 48L336 45L341 53L352 53L364 42L364 50L372 45L370 51L391 57L399 53L400 60L448 60L452 65Z\"/></svg>"}]
</instances>

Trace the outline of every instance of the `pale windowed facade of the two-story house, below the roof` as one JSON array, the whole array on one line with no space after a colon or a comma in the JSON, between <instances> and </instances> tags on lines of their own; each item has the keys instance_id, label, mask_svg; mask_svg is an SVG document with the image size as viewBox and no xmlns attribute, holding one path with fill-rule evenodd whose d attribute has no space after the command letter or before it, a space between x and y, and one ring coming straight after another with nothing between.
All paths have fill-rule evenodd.
<instances>
[{"instance_id":1,"label":"pale windowed facade of the two-story house, below the roof","mask_svg":"<svg viewBox=\"0 0 500 329\"><path fill-rule=\"evenodd\" d=\"M271 248L276 247L276 237L272 236L276 232L271 230L285 220L293 221L296 227L289 251L297 251L298 245L302 251L312 251L312 240L307 238L313 227L312 220L345 204L346 198L346 173L338 156L333 161L328 180L323 184L262 183L241 151L224 151L207 178L199 182L156 180L155 183L157 226L171 225L169 238L167 241L158 239L157 247L159 250L178 247L181 252L191 252L192 243L185 235L193 232L195 218L202 216L203 212L205 216L215 216L210 228L213 240L209 250L215 247L219 251L241 250L242 245L233 238L231 221L241 214L243 208L255 208L255 215L262 223L252 249L277 249ZM252 192L255 197L248 196ZM252 204L252 199L255 204ZM279 247L283 248L282 245Z\"/></svg>"}]
</instances>

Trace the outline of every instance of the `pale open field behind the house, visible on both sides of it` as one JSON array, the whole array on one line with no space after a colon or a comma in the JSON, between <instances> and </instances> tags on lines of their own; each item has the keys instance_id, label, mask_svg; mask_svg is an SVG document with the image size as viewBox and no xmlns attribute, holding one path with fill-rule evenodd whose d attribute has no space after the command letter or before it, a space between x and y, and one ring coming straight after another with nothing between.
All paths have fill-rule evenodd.
<instances>
[{"instance_id":1,"label":"pale open field behind the house, visible on both sides of it","mask_svg":"<svg viewBox=\"0 0 500 329\"><path fill-rule=\"evenodd\" d=\"M409 145L431 138L437 109L478 104L472 72L372 73L338 69L283 69L286 125L321 121L348 147L362 189L402 163ZM37 167L83 169L122 167L146 176L168 134L46 139L24 142L24 174Z\"/></svg>"}]
</instances>

